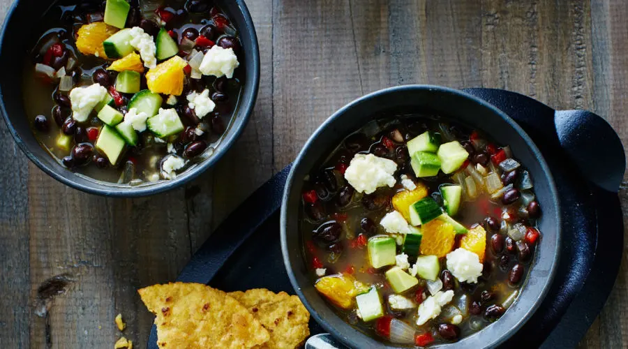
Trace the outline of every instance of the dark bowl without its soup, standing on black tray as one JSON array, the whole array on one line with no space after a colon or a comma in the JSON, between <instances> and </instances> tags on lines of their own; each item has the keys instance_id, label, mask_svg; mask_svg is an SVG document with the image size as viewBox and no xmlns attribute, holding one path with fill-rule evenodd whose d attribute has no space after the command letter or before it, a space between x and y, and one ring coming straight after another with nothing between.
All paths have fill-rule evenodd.
<instances>
[{"instance_id":1,"label":"dark bowl without its soup, standing on black tray","mask_svg":"<svg viewBox=\"0 0 628 349\"><path fill-rule=\"evenodd\" d=\"M338 110L315 131L294 161L287 179L281 206L281 248L290 282L313 318L336 339L351 348L375 348L384 344L348 325L317 293L303 255L299 232L303 179L350 133L357 131L374 115L387 110L430 111L452 121L478 128L500 144L508 144L516 158L532 174L534 191L543 214L539 230L543 237L534 253L531 269L516 302L502 318L481 331L465 337L452 348L497 346L514 334L537 309L548 291L558 266L560 246L560 207L548 166L539 149L510 117L470 94L444 87L409 85L368 94Z\"/></svg>"}]
</instances>

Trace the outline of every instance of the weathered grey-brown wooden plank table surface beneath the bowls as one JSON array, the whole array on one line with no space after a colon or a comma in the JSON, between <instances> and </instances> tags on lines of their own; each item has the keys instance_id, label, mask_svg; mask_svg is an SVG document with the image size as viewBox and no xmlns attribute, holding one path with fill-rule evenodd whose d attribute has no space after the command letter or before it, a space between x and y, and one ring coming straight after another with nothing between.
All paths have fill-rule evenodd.
<instances>
[{"instance_id":1,"label":"weathered grey-brown wooden plank table surface beneath the bowls","mask_svg":"<svg viewBox=\"0 0 628 349\"><path fill-rule=\"evenodd\" d=\"M2 18L10 2L0 0ZM216 168L186 188L134 200L75 191L29 163L0 122L0 348L112 348L117 313L128 324L124 335L144 348L153 316L137 288L174 280L212 229L290 163L324 119L377 89L509 89L557 109L592 110L628 144L628 4L620 0L249 0L248 7L262 57L253 118ZM625 186L620 197L628 207ZM582 348L628 346L627 267L624 258ZM73 282L41 317L38 287L59 275Z\"/></svg>"}]
</instances>

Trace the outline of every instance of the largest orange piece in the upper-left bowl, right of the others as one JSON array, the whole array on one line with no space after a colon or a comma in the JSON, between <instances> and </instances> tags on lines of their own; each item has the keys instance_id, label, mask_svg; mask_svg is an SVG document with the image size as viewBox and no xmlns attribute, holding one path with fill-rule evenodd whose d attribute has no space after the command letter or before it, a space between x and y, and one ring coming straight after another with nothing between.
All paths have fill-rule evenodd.
<instances>
[{"instance_id":1,"label":"largest orange piece in the upper-left bowl, right of the others","mask_svg":"<svg viewBox=\"0 0 628 349\"><path fill-rule=\"evenodd\" d=\"M146 73L149 90L154 94L179 96L183 92L184 68L187 65L187 62L179 56L158 64Z\"/></svg>"}]
</instances>

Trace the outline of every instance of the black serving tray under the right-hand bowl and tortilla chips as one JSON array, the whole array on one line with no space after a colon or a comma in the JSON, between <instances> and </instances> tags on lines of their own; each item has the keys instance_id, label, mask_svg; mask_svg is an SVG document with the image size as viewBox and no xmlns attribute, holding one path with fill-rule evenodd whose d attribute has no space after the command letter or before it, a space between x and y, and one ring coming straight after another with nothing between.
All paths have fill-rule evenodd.
<instances>
[{"instance_id":1,"label":"black serving tray under the right-hand bowl and tortilla chips","mask_svg":"<svg viewBox=\"0 0 628 349\"><path fill-rule=\"evenodd\" d=\"M499 89L464 91L495 105L530 135L551 169L562 207L563 246L553 285L539 310L503 347L573 348L604 306L620 267L624 228L617 190L625 168L621 142L606 121L590 112L553 110ZM289 170L276 174L230 214L177 281L211 281L225 291L268 288L293 293L283 265L278 219ZM313 320L310 328L312 334L322 332ZM153 326L149 349L157 348L156 340Z\"/></svg>"}]
</instances>

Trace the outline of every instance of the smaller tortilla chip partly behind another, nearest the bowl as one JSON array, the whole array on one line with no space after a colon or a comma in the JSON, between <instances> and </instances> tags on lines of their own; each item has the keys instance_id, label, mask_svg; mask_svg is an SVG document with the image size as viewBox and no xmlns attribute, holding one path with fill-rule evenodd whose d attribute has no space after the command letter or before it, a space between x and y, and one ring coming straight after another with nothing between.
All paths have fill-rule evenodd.
<instances>
[{"instance_id":1,"label":"smaller tortilla chip partly behind another, nearest the bowl","mask_svg":"<svg viewBox=\"0 0 628 349\"><path fill-rule=\"evenodd\" d=\"M227 295L246 306L270 332L270 340L260 348L297 348L310 335L310 313L297 296L260 288Z\"/></svg>"}]
</instances>

